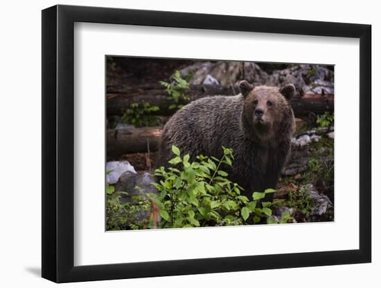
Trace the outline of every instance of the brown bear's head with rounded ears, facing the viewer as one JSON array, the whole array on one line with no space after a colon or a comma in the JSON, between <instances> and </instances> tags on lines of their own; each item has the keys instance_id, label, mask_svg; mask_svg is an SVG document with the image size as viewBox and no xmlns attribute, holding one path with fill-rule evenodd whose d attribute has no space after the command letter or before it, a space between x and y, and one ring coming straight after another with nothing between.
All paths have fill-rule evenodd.
<instances>
[{"instance_id":1,"label":"brown bear's head with rounded ears, facing the viewer","mask_svg":"<svg viewBox=\"0 0 381 288\"><path fill-rule=\"evenodd\" d=\"M242 125L251 140L272 143L274 137L292 136L295 119L290 99L295 93L294 85L283 88L253 86L243 80L240 81L240 91L244 97Z\"/></svg>"}]
</instances>

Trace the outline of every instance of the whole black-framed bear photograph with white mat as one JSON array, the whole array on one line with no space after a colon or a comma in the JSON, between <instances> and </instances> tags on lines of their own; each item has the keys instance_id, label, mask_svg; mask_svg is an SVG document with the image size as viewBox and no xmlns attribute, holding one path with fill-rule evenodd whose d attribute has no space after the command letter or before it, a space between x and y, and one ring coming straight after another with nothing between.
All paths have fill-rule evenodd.
<instances>
[{"instance_id":1,"label":"whole black-framed bear photograph with white mat","mask_svg":"<svg viewBox=\"0 0 381 288\"><path fill-rule=\"evenodd\" d=\"M42 277L371 262L371 26L42 11Z\"/></svg>"}]
</instances>

